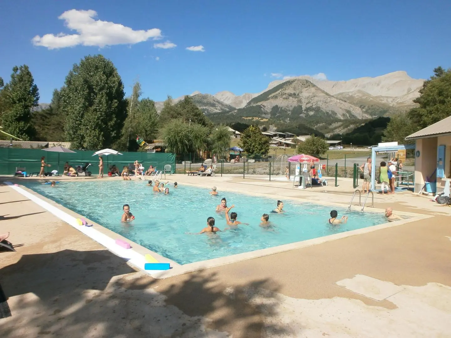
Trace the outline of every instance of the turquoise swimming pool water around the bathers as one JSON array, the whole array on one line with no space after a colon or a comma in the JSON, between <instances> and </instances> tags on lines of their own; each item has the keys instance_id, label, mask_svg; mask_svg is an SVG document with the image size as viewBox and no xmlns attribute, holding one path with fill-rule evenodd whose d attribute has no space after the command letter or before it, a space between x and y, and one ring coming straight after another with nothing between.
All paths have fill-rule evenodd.
<instances>
[{"instance_id":1,"label":"turquoise swimming pool water around the bathers","mask_svg":"<svg viewBox=\"0 0 451 338\"><path fill-rule=\"evenodd\" d=\"M218 196L211 196L209 189L191 186L174 189L172 185L168 185L170 194L165 195L152 192L152 187L147 187L146 183L118 179L64 182L55 188L44 184L27 184L27 187L179 264L386 223L382 214L348 212L345 208L291 200L283 201L285 213L274 214L270 213L276 207L276 199L272 198L222 191ZM224 213L215 211L222 197L226 197L228 206L235 205L232 211L238 213L237 219L249 225L239 225L236 230L217 235L189 234L200 232L209 216L216 219L218 228L226 228ZM133 222L120 222L124 204L130 205L136 217ZM338 211L339 217L348 215L348 223L328 224L332 209ZM270 216L274 231L259 226L263 213Z\"/></svg>"}]
</instances>

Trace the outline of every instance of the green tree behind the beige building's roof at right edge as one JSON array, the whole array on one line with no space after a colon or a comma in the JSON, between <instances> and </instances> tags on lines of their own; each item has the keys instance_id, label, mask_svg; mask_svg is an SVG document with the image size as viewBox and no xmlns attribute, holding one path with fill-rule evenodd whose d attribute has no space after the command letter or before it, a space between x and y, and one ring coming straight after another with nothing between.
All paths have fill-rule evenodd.
<instances>
[{"instance_id":1,"label":"green tree behind the beige building's roof at right edge","mask_svg":"<svg viewBox=\"0 0 451 338\"><path fill-rule=\"evenodd\" d=\"M419 93L420 96L414 100L419 107L407 114L419 129L451 116L451 69L434 69L434 75L424 81Z\"/></svg>"}]
</instances>

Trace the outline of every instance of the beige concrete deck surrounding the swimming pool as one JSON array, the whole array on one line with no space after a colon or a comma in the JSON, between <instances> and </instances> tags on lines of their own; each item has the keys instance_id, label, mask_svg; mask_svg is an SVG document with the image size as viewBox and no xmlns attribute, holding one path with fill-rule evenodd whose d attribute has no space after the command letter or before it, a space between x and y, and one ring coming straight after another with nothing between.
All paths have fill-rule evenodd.
<instances>
[{"instance_id":1,"label":"beige concrete deck surrounding the swimming pool","mask_svg":"<svg viewBox=\"0 0 451 338\"><path fill-rule=\"evenodd\" d=\"M167 178L343 206L353 191L345 182L325 193L236 176ZM2 337L451 337L451 208L428 200L376 195L377 208L432 217L153 279L0 186L0 233L24 244L0 253L13 315L0 319Z\"/></svg>"}]
</instances>

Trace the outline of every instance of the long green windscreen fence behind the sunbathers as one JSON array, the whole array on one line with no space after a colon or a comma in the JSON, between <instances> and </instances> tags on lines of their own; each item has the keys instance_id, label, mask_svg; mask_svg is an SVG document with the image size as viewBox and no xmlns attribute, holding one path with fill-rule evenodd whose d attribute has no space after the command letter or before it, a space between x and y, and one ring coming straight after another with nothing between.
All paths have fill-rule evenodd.
<instances>
[{"instance_id":1,"label":"long green windscreen fence behind the sunbathers","mask_svg":"<svg viewBox=\"0 0 451 338\"><path fill-rule=\"evenodd\" d=\"M69 162L72 166L91 163L88 171L93 175L99 173L99 157L92 156L96 151L75 150L75 153L57 153L53 151L43 151L39 149L19 149L0 148L0 174L12 175L16 168L24 168L27 174L39 172L41 169L41 156L45 156L47 164L45 171L58 170L63 174L64 163ZM58 157L59 156L59 157ZM59 160L58 160L59 159ZM171 174L175 173L175 154L172 153L148 153L148 152L124 152L124 155L103 156L104 174L107 174L109 166L115 164L122 171L124 165L133 165L138 160L147 170L149 165L153 165L156 170L164 170L166 164L170 164ZM168 169L169 167L167 167Z\"/></svg>"}]
</instances>

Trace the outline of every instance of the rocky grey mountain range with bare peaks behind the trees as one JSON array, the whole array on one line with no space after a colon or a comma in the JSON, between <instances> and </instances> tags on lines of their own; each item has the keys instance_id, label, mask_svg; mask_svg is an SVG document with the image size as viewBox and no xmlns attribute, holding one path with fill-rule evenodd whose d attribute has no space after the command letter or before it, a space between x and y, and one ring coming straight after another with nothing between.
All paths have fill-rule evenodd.
<instances>
[{"instance_id":1,"label":"rocky grey mountain range with bare peaks behind the trees","mask_svg":"<svg viewBox=\"0 0 451 338\"><path fill-rule=\"evenodd\" d=\"M275 80L258 93L235 95L220 91L214 95L193 92L196 105L205 114L230 114L235 117L281 119L368 119L413 107L423 79L414 79L404 71L375 78L347 81L319 80L299 76ZM174 99L182 100L183 96ZM161 110L163 102L156 102ZM224 117L224 116L223 116Z\"/></svg>"}]
</instances>

